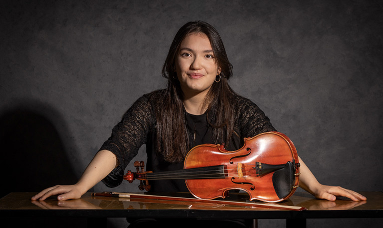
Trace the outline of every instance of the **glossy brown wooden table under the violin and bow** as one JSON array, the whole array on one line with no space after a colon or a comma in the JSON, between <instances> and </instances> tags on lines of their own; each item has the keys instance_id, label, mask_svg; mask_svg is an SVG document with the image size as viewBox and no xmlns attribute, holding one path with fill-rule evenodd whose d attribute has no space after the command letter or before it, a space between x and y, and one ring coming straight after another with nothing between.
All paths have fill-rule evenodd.
<instances>
[{"instance_id":1,"label":"glossy brown wooden table under the violin and bow","mask_svg":"<svg viewBox=\"0 0 383 228\"><path fill-rule=\"evenodd\" d=\"M35 192L12 192L0 199L0 217L82 217L88 226L105 227L107 217L200 218L200 219L286 219L287 227L306 227L307 218L382 218L383 192L361 192L367 201L315 199L307 192L296 192L280 205L303 206L307 210L292 211L217 203L160 203L140 199L93 197L91 192L80 199L31 201ZM166 194L164 194L166 195ZM191 197L189 193L178 196ZM231 193L225 200L248 201L246 193Z\"/></svg>"}]
</instances>

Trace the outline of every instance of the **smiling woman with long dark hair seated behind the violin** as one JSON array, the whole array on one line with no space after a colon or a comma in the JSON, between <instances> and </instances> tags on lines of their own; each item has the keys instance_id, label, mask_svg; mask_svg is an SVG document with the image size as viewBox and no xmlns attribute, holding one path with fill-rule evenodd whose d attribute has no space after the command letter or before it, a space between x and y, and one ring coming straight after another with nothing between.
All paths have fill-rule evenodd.
<instances>
[{"instance_id":1,"label":"smiling woman with long dark hair seated behind the violin","mask_svg":"<svg viewBox=\"0 0 383 228\"><path fill-rule=\"evenodd\" d=\"M162 75L168 79L167 88L143 95L128 109L76 184L49 187L31 199L80 198L100 180L117 186L144 143L148 170L177 170L195 145L225 143L228 150L236 150L244 137L276 130L257 105L230 88L232 65L218 32L206 22L188 22L179 29ZM299 185L315 197L366 200L355 191L320 184L299 159ZM151 185L152 191L187 191L183 180L152 181Z\"/></svg>"}]
</instances>

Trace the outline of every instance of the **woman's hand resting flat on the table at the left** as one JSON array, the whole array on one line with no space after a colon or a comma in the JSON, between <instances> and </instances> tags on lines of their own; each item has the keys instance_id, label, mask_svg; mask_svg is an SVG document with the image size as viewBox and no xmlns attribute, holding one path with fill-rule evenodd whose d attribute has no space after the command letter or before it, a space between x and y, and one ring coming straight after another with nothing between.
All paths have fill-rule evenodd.
<instances>
[{"instance_id":1,"label":"woman's hand resting flat on the table at the left","mask_svg":"<svg viewBox=\"0 0 383 228\"><path fill-rule=\"evenodd\" d=\"M31 200L44 200L49 196L57 195L57 200L80 198L86 192L83 191L77 184L73 185L56 185L48 187L36 195L32 196Z\"/></svg>"}]
</instances>

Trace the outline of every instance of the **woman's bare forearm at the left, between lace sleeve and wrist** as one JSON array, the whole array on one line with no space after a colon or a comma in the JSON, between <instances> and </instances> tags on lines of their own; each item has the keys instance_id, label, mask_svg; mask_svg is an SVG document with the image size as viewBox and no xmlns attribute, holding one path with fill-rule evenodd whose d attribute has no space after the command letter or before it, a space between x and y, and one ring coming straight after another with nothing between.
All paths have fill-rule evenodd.
<instances>
[{"instance_id":1,"label":"woman's bare forearm at the left, between lace sleeve and wrist","mask_svg":"<svg viewBox=\"0 0 383 228\"><path fill-rule=\"evenodd\" d=\"M90 161L78 182L82 194L93 187L108 175L117 165L117 159L114 153L109 150L100 150Z\"/></svg>"}]
</instances>

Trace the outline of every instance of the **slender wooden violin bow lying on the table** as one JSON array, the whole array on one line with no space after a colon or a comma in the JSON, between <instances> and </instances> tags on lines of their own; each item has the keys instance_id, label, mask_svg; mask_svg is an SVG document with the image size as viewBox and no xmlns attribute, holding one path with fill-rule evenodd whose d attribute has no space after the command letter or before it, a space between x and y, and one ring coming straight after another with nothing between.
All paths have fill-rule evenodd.
<instances>
[{"instance_id":1,"label":"slender wooden violin bow lying on the table","mask_svg":"<svg viewBox=\"0 0 383 228\"><path fill-rule=\"evenodd\" d=\"M136 198L136 199L157 199L157 200L172 200L172 201L183 201L183 202L205 202L205 203L219 203L236 206L253 206L271 209L282 209L282 210L306 210L307 208L302 206L286 206L279 204L265 204L255 202L240 202L240 201L228 201L228 200L212 200L202 198L186 198L186 197L175 197L175 196L162 196L162 195L149 195L149 194L137 194L137 193L126 193L126 192L101 192L92 193L92 196L106 196L106 197L121 197L121 198Z\"/></svg>"}]
</instances>

